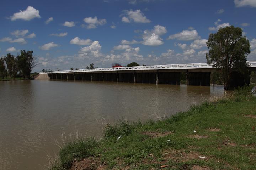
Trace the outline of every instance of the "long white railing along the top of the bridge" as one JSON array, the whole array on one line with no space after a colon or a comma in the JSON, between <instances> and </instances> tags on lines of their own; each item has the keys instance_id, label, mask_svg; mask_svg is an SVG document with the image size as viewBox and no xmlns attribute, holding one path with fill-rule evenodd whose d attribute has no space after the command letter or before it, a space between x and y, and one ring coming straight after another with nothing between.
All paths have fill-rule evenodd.
<instances>
[{"instance_id":1,"label":"long white railing along the top of the bridge","mask_svg":"<svg viewBox=\"0 0 256 170\"><path fill-rule=\"evenodd\" d=\"M256 61L247 61L248 67L256 67ZM40 73L78 73L78 72L104 72L104 71L125 71L125 70L161 70L161 69L204 69L213 68L207 63L191 63L191 64L166 64L155 66L136 66L136 67L115 67L115 68L92 68L92 69L79 69L79 70L64 70L53 72L40 72Z\"/></svg>"}]
</instances>

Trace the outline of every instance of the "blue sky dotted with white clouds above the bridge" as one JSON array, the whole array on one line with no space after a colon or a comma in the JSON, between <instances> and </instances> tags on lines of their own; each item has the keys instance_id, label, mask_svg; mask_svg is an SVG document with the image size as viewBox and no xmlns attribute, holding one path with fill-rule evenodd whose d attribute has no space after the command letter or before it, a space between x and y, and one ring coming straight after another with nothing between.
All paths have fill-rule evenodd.
<instances>
[{"instance_id":1,"label":"blue sky dotted with white clouds above the bridge","mask_svg":"<svg viewBox=\"0 0 256 170\"><path fill-rule=\"evenodd\" d=\"M42 69L204 63L210 33L233 25L256 60L256 0L2 0L0 57L33 50Z\"/></svg>"}]
</instances>

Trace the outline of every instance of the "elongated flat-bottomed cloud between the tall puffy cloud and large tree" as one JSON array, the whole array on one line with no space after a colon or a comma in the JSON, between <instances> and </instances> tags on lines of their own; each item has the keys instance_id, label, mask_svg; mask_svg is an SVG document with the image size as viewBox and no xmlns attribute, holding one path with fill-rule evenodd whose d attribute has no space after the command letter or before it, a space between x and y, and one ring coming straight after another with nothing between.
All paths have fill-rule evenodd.
<instances>
[{"instance_id":1,"label":"elongated flat-bottomed cloud between the tall puffy cloud and large tree","mask_svg":"<svg viewBox=\"0 0 256 170\"><path fill-rule=\"evenodd\" d=\"M198 36L198 32L196 30L183 30L180 33L170 35L167 39L177 39L177 40L183 40L183 41L189 41L198 39L200 36Z\"/></svg>"}]
</instances>

